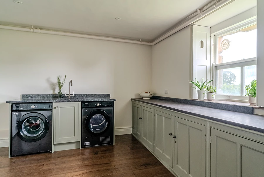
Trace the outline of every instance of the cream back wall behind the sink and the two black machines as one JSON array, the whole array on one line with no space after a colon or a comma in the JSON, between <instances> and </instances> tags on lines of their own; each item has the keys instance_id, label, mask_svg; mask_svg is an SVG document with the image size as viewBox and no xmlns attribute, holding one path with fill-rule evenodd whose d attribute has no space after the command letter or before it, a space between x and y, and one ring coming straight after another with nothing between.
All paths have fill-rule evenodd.
<instances>
[{"instance_id":1,"label":"cream back wall behind the sink and the two black machines","mask_svg":"<svg viewBox=\"0 0 264 177\"><path fill-rule=\"evenodd\" d=\"M116 98L116 128L131 128L131 101L151 90L151 46L0 30L0 138L8 137L9 104L21 94L51 94L58 75L74 93Z\"/></svg>"}]
</instances>

